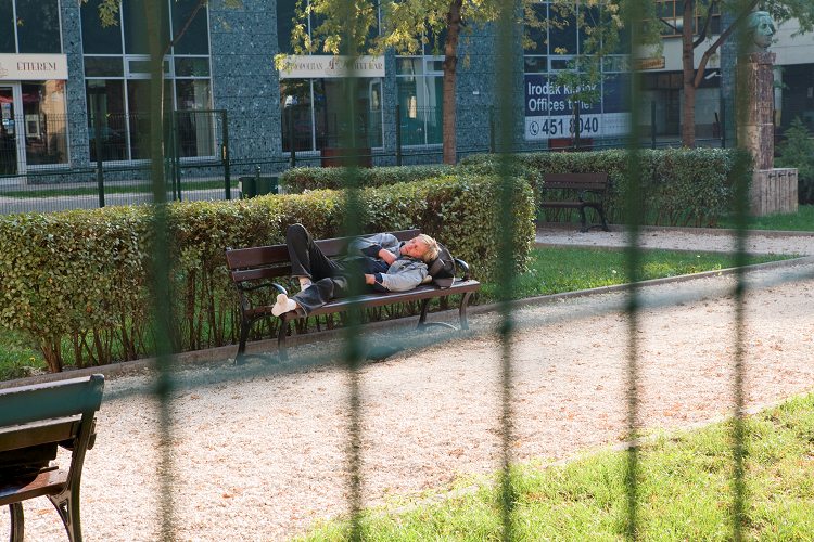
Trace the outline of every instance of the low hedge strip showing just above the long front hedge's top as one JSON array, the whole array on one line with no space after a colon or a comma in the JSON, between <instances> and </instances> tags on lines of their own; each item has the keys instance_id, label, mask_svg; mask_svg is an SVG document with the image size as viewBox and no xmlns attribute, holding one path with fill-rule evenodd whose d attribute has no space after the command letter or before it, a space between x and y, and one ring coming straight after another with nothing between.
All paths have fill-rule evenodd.
<instances>
[{"instance_id":1,"label":"low hedge strip showing just above the long front hedge's top","mask_svg":"<svg viewBox=\"0 0 814 542\"><path fill-rule=\"evenodd\" d=\"M453 166L394 166L357 168L357 186L372 188L402 182L423 181L454 172ZM280 184L290 194L306 190L341 190L347 185L346 168L293 168L280 176Z\"/></svg>"}]
</instances>

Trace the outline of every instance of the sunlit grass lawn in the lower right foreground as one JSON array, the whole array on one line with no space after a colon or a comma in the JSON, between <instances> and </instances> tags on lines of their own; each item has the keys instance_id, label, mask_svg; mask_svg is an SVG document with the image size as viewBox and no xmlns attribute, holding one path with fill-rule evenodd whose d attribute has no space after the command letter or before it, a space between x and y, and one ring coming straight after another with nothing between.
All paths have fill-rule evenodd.
<instances>
[{"instance_id":1,"label":"sunlit grass lawn in the lower right foreground","mask_svg":"<svg viewBox=\"0 0 814 542\"><path fill-rule=\"evenodd\" d=\"M637 511L641 540L733 540L730 423L656 436L639 448ZM814 395L746 423L745 540L812 540L814 533ZM625 452L603 451L565 465L523 464L513 540L625 539ZM501 540L497 483L480 480L462 496L397 503L363 513L370 541ZM472 480L461 481L461 487ZM433 496L432 493L423 496ZM438 501L427 504L429 501ZM405 505L406 504L406 505ZM348 539L348 524L328 522L300 540Z\"/></svg>"}]
</instances>

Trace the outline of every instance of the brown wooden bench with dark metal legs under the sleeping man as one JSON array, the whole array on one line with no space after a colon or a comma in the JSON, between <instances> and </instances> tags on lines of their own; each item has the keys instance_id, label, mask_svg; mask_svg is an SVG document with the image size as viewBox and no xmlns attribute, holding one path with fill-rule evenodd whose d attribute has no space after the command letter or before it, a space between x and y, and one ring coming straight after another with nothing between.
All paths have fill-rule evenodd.
<instances>
[{"instance_id":1,"label":"brown wooden bench with dark metal legs under the sleeping man","mask_svg":"<svg viewBox=\"0 0 814 542\"><path fill-rule=\"evenodd\" d=\"M391 232L399 241L408 241L419 233L420 230L403 230ZM320 250L329 258L343 256L347 244L352 237L335 237L329 240L318 240L315 243ZM238 345L238 356L236 363L240 363L246 348L246 340L252 325L267 317L271 317L271 307L277 293L287 294L283 286L271 282L277 278L288 278L291 275L291 261L289 260L289 250L285 245L258 246L252 248L227 248L226 261L231 280L238 288L240 297L240 343ZM440 288L432 283L425 283L408 292L385 292L368 293L353 298L334 299L329 304L316 309L310 313L311 317L343 312L351 307L371 308L383 305L400 304L407 301L421 302L421 315L418 320L418 328L421 330L431 323L427 322L427 312L430 300L433 298L446 297L461 294L461 301L458 309L460 327L468 328L467 306L470 296L476 292L481 284L470 278L469 266L461 259L455 258L457 269L463 274L462 278L456 278L451 286ZM255 305L252 293L262 288L272 288L274 296L268 304ZM278 330L277 344L278 352L281 360L287 359L285 336L288 335L289 323L304 317L296 312L285 312L280 317L280 327ZM434 323L434 325L446 325L447 323ZM451 327L451 326L450 326Z\"/></svg>"}]
</instances>

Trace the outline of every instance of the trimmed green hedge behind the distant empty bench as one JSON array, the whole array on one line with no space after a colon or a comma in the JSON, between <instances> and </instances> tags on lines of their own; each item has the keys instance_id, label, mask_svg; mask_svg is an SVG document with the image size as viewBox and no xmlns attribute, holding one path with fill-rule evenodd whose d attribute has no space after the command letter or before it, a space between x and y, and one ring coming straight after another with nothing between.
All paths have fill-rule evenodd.
<instances>
[{"instance_id":1,"label":"trimmed green hedge behind the distant empty bench","mask_svg":"<svg viewBox=\"0 0 814 542\"><path fill-rule=\"evenodd\" d=\"M530 153L512 156L512 167L535 185L545 173L608 172L612 189L608 202L611 222L624 222L623 197L628 181L625 150L584 153ZM749 159L742 151L721 149L643 150L640 153L644 223L653 225L715 225L733 209L736 160ZM480 172L497 171L495 155L469 156L461 166ZM562 211L546 211L559 218Z\"/></svg>"}]
</instances>

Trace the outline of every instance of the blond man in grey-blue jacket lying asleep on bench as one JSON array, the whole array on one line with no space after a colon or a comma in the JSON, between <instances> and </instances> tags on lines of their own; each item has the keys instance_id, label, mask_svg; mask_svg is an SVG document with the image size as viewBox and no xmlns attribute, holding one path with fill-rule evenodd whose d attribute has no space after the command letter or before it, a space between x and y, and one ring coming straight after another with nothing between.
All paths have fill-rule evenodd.
<instances>
[{"instance_id":1,"label":"blond man in grey-blue jacket lying asleep on bench","mask_svg":"<svg viewBox=\"0 0 814 542\"><path fill-rule=\"evenodd\" d=\"M276 317L292 310L308 315L331 299L372 288L374 292L406 292L424 282L428 263L438 257L438 244L420 234L399 242L389 233L355 238L347 257L334 261L314 243L302 224L289 225L285 245L291 259L291 276L300 280L300 293L277 296L271 308Z\"/></svg>"}]
</instances>

